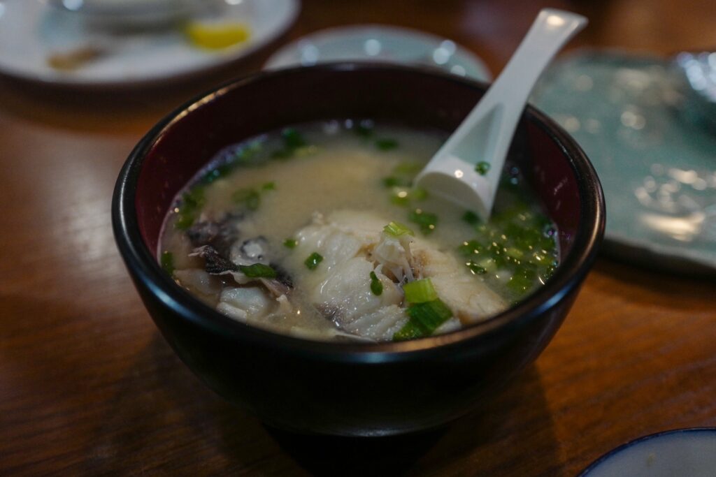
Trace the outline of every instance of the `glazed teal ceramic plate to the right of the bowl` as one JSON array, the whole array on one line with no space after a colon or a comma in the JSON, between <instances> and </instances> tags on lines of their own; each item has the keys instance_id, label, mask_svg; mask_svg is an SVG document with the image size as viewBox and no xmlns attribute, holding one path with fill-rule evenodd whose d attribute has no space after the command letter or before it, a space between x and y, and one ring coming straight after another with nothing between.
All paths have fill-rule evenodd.
<instances>
[{"instance_id":1,"label":"glazed teal ceramic plate to the right of the bowl","mask_svg":"<svg viewBox=\"0 0 716 477\"><path fill-rule=\"evenodd\" d=\"M599 174L606 252L716 275L716 134L690 119L685 93L672 62L583 52L548 69L531 101Z\"/></svg>"}]
</instances>

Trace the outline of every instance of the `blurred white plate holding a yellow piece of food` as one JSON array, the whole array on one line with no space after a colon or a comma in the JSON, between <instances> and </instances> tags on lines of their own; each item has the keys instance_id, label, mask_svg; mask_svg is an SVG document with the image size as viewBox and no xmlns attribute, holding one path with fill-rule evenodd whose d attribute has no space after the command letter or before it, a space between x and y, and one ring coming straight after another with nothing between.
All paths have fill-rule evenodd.
<instances>
[{"instance_id":1,"label":"blurred white plate holding a yellow piece of food","mask_svg":"<svg viewBox=\"0 0 716 477\"><path fill-rule=\"evenodd\" d=\"M0 0L0 72L48 84L88 87L141 85L186 77L235 62L289 28L299 0L231 0L212 21L248 25L246 42L221 50L192 46L178 29L112 34L93 27L79 12L40 0ZM49 66L51 54L84 46L106 50L72 71Z\"/></svg>"}]
</instances>

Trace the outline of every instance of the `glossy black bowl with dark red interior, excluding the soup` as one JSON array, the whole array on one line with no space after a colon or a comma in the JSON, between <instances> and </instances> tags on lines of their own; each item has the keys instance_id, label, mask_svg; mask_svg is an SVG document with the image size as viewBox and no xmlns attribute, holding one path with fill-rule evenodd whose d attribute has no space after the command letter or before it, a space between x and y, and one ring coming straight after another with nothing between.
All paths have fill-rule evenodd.
<instances>
[{"instance_id":1,"label":"glossy black bowl with dark red interior, excluding the soup","mask_svg":"<svg viewBox=\"0 0 716 477\"><path fill-rule=\"evenodd\" d=\"M484 323L402 343L277 335L203 305L161 270L155 256L173 197L223 147L319 119L369 117L449 132L484 91L484 84L411 67L285 69L219 87L148 132L117 180L112 222L147 310L184 363L271 426L342 436L441 426L531 363L561 325L604 233L604 200L589 160L531 107L511 158L558 224L561 265L544 287Z\"/></svg>"}]
</instances>

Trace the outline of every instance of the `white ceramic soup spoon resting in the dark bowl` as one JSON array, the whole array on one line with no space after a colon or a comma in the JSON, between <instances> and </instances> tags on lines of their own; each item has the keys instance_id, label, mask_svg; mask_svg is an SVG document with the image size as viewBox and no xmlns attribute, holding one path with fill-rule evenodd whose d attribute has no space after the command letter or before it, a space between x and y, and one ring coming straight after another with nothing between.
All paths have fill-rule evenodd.
<instances>
[{"instance_id":1,"label":"white ceramic soup spoon resting in the dark bowl","mask_svg":"<svg viewBox=\"0 0 716 477\"><path fill-rule=\"evenodd\" d=\"M556 52L586 23L584 16L569 11L541 10L498 79L417 175L415 185L488 220L527 97Z\"/></svg>"}]
</instances>

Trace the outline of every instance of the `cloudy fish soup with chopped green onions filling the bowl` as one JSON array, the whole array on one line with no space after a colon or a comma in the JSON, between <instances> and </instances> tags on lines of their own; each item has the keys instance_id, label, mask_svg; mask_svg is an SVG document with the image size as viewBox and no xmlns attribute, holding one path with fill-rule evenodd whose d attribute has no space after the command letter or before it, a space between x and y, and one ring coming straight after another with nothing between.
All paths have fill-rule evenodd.
<instances>
[{"instance_id":1,"label":"cloudy fish soup with chopped green onions filling the bowl","mask_svg":"<svg viewBox=\"0 0 716 477\"><path fill-rule=\"evenodd\" d=\"M413 188L445 139L348 119L228 147L177 195L160 264L211 308L302 338L408 340L485 320L548 279L556 227L512 164L487 223Z\"/></svg>"}]
</instances>

